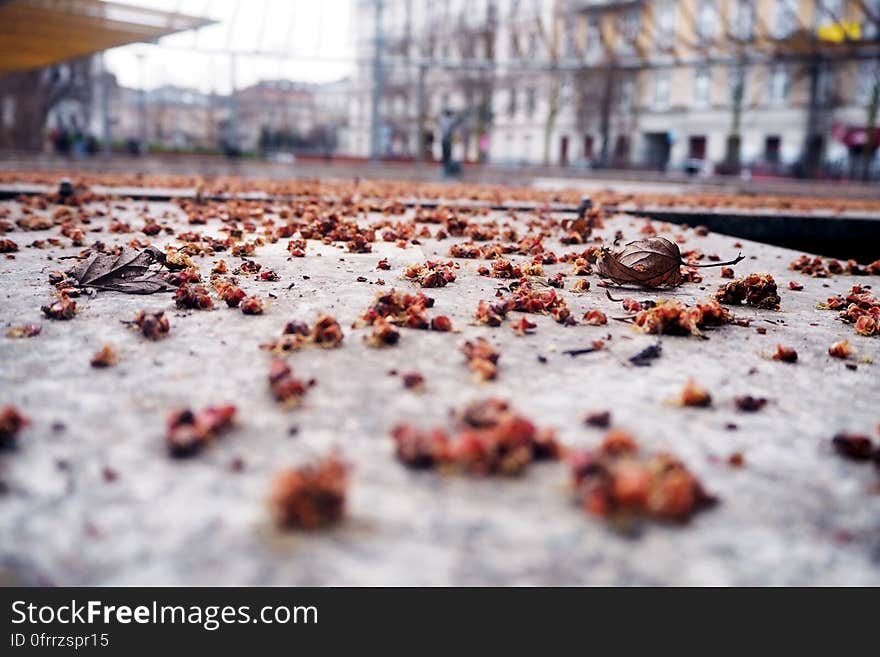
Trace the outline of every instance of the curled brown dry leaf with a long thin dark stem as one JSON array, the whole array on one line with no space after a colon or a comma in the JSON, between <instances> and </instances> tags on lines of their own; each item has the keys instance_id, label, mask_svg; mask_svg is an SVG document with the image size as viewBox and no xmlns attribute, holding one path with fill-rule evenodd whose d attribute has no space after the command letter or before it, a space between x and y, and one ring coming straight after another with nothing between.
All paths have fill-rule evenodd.
<instances>
[{"instance_id":1,"label":"curled brown dry leaf with a long thin dark stem","mask_svg":"<svg viewBox=\"0 0 880 657\"><path fill-rule=\"evenodd\" d=\"M693 265L681 258L678 245L665 237L648 237L629 242L622 251L602 249L596 260L599 276L610 278L618 285L641 285L642 287L676 287L683 279L681 266L721 267L733 265L743 259L740 254L730 262Z\"/></svg>"}]
</instances>

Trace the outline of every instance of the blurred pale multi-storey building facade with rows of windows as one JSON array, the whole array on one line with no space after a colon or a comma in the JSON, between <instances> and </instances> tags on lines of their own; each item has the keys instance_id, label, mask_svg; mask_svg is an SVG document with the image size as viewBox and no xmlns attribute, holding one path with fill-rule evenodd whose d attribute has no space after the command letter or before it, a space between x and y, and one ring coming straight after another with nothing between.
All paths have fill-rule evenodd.
<instances>
[{"instance_id":1,"label":"blurred pale multi-storey building facade with rows of windows","mask_svg":"<svg viewBox=\"0 0 880 657\"><path fill-rule=\"evenodd\" d=\"M861 168L880 0L356 0L350 145L462 159L768 173Z\"/></svg>"}]
</instances>

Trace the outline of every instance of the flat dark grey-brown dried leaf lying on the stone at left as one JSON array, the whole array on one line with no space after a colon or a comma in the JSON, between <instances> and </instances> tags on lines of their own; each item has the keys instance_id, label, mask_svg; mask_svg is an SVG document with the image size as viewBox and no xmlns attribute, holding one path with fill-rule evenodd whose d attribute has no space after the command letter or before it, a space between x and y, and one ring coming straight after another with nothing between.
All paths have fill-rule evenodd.
<instances>
[{"instance_id":1,"label":"flat dark grey-brown dried leaf lying on the stone at left","mask_svg":"<svg viewBox=\"0 0 880 657\"><path fill-rule=\"evenodd\" d=\"M113 290L125 294L153 294L173 290L156 270L150 267L162 262L165 254L155 247L143 251L122 249L118 256L95 252L76 265L71 276L82 287Z\"/></svg>"}]
</instances>

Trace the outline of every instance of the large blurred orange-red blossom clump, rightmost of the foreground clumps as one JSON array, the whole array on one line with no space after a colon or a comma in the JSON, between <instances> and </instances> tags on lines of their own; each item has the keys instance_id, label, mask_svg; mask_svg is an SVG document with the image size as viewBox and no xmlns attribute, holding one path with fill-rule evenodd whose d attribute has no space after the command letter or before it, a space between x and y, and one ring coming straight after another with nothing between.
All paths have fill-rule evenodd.
<instances>
[{"instance_id":1,"label":"large blurred orange-red blossom clump, rightmost of the foreground clumps","mask_svg":"<svg viewBox=\"0 0 880 657\"><path fill-rule=\"evenodd\" d=\"M670 454L640 457L635 439L612 430L598 448L570 455L578 502L599 516L683 521L716 500Z\"/></svg>"}]
</instances>

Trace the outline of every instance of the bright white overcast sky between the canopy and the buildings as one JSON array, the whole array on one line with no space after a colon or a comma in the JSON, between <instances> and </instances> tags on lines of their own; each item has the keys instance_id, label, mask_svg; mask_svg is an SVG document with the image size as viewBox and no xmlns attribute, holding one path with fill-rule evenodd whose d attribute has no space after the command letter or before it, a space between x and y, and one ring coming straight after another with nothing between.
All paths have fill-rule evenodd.
<instances>
[{"instance_id":1,"label":"bright white overcast sky between the canopy and the buildings","mask_svg":"<svg viewBox=\"0 0 880 657\"><path fill-rule=\"evenodd\" d=\"M167 36L158 45L133 44L107 52L107 67L125 86L163 84L226 93L230 58L201 50L271 51L279 57L238 57L236 85L287 78L322 82L350 74L349 17L353 0L122 0L219 21ZM143 54L143 78L138 55Z\"/></svg>"}]
</instances>

